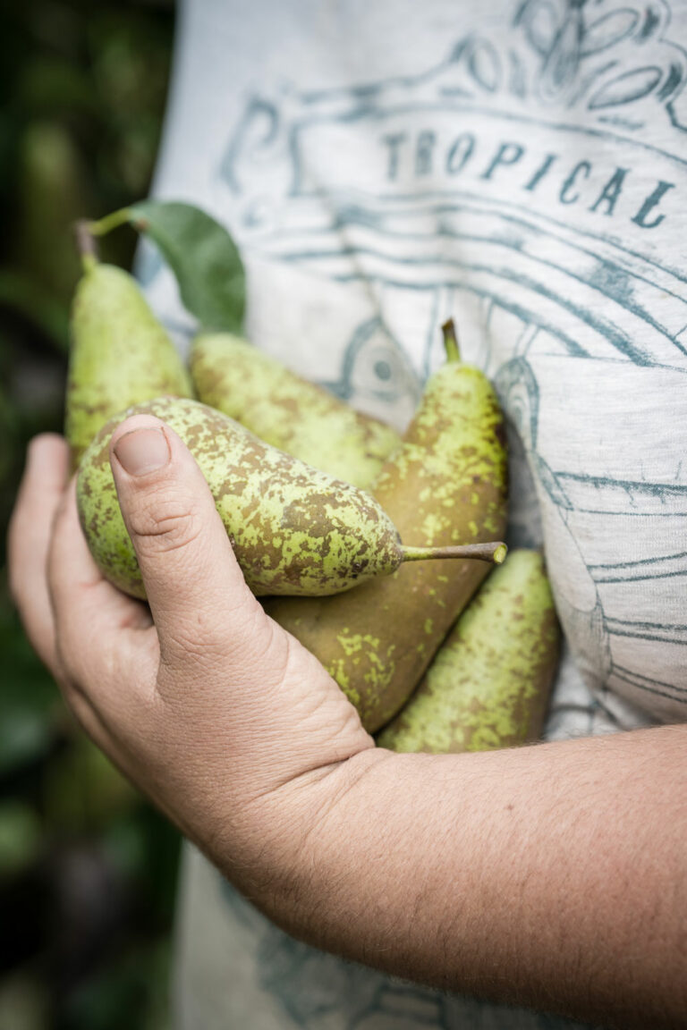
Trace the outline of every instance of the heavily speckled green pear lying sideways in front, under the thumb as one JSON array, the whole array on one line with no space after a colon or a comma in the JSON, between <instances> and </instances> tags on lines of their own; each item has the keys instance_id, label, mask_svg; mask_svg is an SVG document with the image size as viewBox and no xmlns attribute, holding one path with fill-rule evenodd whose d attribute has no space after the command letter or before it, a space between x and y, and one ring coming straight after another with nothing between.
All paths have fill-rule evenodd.
<instances>
[{"instance_id":1,"label":"heavily speckled green pear lying sideways in front, under the thumb","mask_svg":"<svg viewBox=\"0 0 687 1030\"><path fill-rule=\"evenodd\" d=\"M197 401L159 398L111 419L81 459L77 504L99 569L135 597L144 588L109 462L109 441L125 415L156 415L196 457L248 586L262 594L329 594L388 575L403 552L379 504L270 447Z\"/></svg>"}]
</instances>

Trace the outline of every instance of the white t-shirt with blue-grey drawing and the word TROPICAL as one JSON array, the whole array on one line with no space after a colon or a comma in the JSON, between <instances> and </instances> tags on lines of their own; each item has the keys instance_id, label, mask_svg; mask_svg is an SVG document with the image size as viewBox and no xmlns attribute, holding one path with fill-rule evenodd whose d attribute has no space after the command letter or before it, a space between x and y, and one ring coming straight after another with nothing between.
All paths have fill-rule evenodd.
<instances>
[{"instance_id":1,"label":"white t-shirt with blue-grey drawing and the word TROPICAL","mask_svg":"<svg viewBox=\"0 0 687 1030\"><path fill-rule=\"evenodd\" d=\"M687 716L686 79L687 0L180 11L156 193L233 233L251 341L400 428L449 315L494 383L509 540L543 541L566 640L549 739ZM184 870L184 1030L554 1025L323 956Z\"/></svg>"}]
</instances>

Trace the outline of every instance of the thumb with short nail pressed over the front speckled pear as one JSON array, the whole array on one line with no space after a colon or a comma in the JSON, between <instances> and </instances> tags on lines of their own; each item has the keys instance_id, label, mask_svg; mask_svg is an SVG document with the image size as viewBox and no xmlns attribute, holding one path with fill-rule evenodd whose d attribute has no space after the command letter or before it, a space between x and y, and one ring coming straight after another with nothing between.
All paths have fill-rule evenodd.
<instances>
[{"instance_id":1,"label":"thumb with short nail pressed over the front speckled pear","mask_svg":"<svg viewBox=\"0 0 687 1030\"><path fill-rule=\"evenodd\" d=\"M253 638L267 616L181 439L154 416L134 415L112 434L110 465L163 659L260 647Z\"/></svg>"}]
</instances>

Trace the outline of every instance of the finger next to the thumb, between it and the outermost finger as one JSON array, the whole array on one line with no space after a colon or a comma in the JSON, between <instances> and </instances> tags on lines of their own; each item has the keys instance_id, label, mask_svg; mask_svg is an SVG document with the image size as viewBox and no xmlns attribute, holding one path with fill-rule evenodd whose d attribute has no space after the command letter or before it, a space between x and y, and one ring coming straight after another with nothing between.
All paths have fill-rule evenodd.
<instances>
[{"instance_id":1,"label":"finger next to the thumb, between it and the outermost finger","mask_svg":"<svg viewBox=\"0 0 687 1030\"><path fill-rule=\"evenodd\" d=\"M68 689L84 694L106 721L117 718L123 706L131 707L132 693L152 690L157 634L145 606L108 583L93 560L78 521L75 480L56 513L47 583Z\"/></svg>"}]
</instances>

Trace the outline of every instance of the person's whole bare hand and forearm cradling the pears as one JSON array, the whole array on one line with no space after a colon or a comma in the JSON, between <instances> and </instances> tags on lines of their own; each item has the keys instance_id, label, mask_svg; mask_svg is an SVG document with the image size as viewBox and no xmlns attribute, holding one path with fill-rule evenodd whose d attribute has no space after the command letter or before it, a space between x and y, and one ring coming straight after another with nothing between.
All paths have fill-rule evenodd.
<instances>
[{"instance_id":1,"label":"person's whole bare hand and forearm cradling the pears","mask_svg":"<svg viewBox=\"0 0 687 1030\"><path fill-rule=\"evenodd\" d=\"M130 419L114 444L158 425ZM164 435L157 470L112 455L149 611L94 564L59 439L33 444L10 525L27 631L96 743L312 945L607 1027L684 1027L687 727L375 749L247 589L200 470Z\"/></svg>"}]
</instances>

